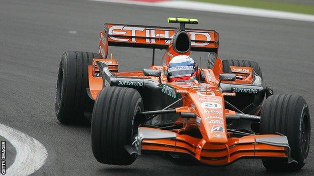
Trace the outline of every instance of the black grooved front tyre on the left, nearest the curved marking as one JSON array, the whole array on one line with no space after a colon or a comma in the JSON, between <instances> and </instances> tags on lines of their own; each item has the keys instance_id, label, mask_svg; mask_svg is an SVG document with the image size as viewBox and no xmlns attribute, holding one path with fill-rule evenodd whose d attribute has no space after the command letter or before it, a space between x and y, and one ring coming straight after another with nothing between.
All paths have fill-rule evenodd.
<instances>
[{"instance_id":1,"label":"black grooved front tyre on the left, nearest the curved marking","mask_svg":"<svg viewBox=\"0 0 314 176\"><path fill-rule=\"evenodd\" d=\"M124 145L137 134L136 113L143 110L140 94L131 88L106 87L97 97L92 116L92 149L95 158L106 164L129 165L136 159Z\"/></svg>"}]
</instances>

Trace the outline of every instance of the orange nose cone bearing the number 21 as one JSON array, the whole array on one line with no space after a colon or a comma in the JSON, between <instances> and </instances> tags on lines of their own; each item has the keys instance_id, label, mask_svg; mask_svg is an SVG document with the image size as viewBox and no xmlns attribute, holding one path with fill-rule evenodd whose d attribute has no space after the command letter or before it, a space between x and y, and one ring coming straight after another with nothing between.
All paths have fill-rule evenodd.
<instances>
[{"instance_id":1,"label":"orange nose cone bearing the number 21","mask_svg":"<svg viewBox=\"0 0 314 176\"><path fill-rule=\"evenodd\" d=\"M227 143L224 99L217 86L192 82L174 82L172 85L189 92L189 98L198 112L197 125L206 142Z\"/></svg>"}]
</instances>

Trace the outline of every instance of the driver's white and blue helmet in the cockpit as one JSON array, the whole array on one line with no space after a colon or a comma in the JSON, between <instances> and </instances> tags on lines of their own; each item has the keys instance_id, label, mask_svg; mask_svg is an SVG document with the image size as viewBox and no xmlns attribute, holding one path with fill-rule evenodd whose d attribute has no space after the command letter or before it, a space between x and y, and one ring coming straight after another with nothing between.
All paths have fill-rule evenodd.
<instances>
[{"instance_id":1,"label":"driver's white and blue helmet in the cockpit","mask_svg":"<svg viewBox=\"0 0 314 176\"><path fill-rule=\"evenodd\" d=\"M194 81L197 67L193 58L187 55L175 56L168 66L169 81Z\"/></svg>"}]
</instances>

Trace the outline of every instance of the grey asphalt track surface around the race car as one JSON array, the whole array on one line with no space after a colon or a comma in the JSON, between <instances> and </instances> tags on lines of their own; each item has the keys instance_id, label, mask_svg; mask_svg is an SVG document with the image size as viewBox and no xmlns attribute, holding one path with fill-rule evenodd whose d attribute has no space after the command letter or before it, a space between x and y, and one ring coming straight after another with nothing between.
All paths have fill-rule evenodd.
<instances>
[{"instance_id":1,"label":"grey asphalt track surface around the race car","mask_svg":"<svg viewBox=\"0 0 314 176\"><path fill-rule=\"evenodd\" d=\"M129 166L105 165L92 154L89 126L67 126L57 121L55 84L63 52L98 52L99 31L105 22L173 26L166 24L169 16L197 18L197 28L217 30L221 58L259 62L275 94L303 96L314 117L314 23L82 0L2 0L0 123L36 138L46 147L47 161L34 175L281 174L268 173L261 160L249 159L216 168L150 155L138 157ZM120 71L149 67L151 62L147 49L110 48L110 52L119 61ZM161 55L156 53L157 63L161 63ZM198 57L196 61L200 63ZM201 65L206 66L205 59ZM312 145L313 140L303 169L285 174L313 175ZM8 142L8 152L15 153L10 146Z\"/></svg>"}]
</instances>

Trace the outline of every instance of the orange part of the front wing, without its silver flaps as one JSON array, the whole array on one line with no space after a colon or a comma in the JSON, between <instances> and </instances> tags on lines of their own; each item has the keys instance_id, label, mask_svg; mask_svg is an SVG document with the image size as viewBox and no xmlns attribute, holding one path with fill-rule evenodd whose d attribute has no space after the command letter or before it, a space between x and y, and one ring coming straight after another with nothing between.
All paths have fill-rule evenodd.
<instances>
[{"instance_id":1,"label":"orange part of the front wing, without its silver flaps","mask_svg":"<svg viewBox=\"0 0 314 176\"><path fill-rule=\"evenodd\" d=\"M176 139L144 139L142 150L167 151L188 154L209 165L225 165L244 157L288 157L286 147L260 144L255 137L277 135L254 135L230 137L225 144L211 144L204 139L177 135Z\"/></svg>"}]
</instances>

